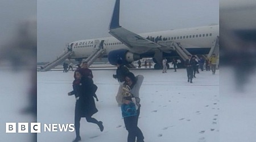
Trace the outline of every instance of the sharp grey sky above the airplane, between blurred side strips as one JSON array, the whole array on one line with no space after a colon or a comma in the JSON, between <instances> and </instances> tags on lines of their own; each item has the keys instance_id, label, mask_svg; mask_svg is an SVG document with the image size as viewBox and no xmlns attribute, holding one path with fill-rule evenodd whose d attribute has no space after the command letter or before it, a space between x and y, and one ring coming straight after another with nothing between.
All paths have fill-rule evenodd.
<instances>
[{"instance_id":1,"label":"sharp grey sky above the airplane, between blurred side strips","mask_svg":"<svg viewBox=\"0 0 256 142\"><path fill-rule=\"evenodd\" d=\"M53 61L65 43L108 37L115 0L38 0L38 62ZM137 34L218 24L216 0L129 0L120 4L120 24Z\"/></svg>"}]
</instances>

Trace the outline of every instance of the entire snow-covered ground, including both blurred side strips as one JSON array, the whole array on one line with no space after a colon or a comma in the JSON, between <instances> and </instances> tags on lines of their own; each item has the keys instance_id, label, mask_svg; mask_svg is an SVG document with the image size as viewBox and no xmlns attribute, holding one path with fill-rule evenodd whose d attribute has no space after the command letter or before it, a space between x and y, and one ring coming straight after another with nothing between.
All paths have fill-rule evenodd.
<instances>
[{"instance_id":1,"label":"entire snow-covered ground, including both blurred side strips","mask_svg":"<svg viewBox=\"0 0 256 142\"><path fill-rule=\"evenodd\" d=\"M237 89L233 68L221 68L214 76L200 72L194 83L187 82L185 69L168 70L166 74L161 70L132 72L144 76L139 127L146 142L256 140L254 73L249 74L241 91ZM100 132L96 125L83 118L82 141L126 141L127 131L114 99L118 89L117 81L112 78L114 73L115 70L93 70L100 99L96 102L99 112L93 116L104 122L105 129ZM30 104L31 73L0 70L0 77L0 141L34 142L31 133L5 133L6 122L35 122L33 115L22 112ZM73 123L75 98L67 95L72 81L73 72L38 72L38 122ZM75 132L38 133L38 141L73 139Z\"/></svg>"}]
</instances>

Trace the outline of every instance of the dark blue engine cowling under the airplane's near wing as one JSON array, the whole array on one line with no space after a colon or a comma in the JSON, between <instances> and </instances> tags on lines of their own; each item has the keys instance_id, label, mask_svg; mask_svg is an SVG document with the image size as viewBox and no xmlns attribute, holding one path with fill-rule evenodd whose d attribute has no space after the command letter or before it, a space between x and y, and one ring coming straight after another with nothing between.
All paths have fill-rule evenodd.
<instances>
[{"instance_id":1,"label":"dark blue engine cowling under the airplane's near wing","mask_svg":"<svg viewBox=\"0 0 256 142\"><path fill-rule=\"evenodd\" d=\"M131 53L126 49L118 49L110 51L108 55L109 63L112 65L117 65L117 60L121 59L123 64L130 64L133 61L139 60L140 57L136 53Z\"/></svg>"}]
</instances>

